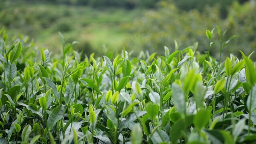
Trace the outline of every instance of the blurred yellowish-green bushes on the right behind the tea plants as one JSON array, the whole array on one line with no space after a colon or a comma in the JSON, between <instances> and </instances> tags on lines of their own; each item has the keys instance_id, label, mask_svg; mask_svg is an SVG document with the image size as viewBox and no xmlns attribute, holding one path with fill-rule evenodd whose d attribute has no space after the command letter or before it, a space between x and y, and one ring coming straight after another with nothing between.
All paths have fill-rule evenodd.
<instances>
[{"instance_id":1,"label":"blurred yellowish-green bushes on the right behind the tea plants","mask_svg":"<svg viewBox=\"0 0 256 144\"><path fill-rule=\"evenodd\" d=\"M136 19L130 28L132 37L126 40L126 47L130 50L134 46L150 52L162 52L163 46L174 46L174 39L183 47L198 42L198 50L204 52L208 48L208 40L204 38L204 30L219 26L226 31L223 39L228 40L233 35L238 35L226 49L225 56L230 53L240 55L239 49L245 48L244 53L250 54L256 48L256 7L251 3L239 4L234 2L228 9L226 18L220 17L220 6L205 6L201 12L198 10L184 11L174 4L162 2L158 10L146 12L144 16ZM215 58L219 56L219 36L213 35L212 54ZM137 49L139 50L139 49ZM253 59L256 56L252 56Z\"/></svg>"}]
</instances>

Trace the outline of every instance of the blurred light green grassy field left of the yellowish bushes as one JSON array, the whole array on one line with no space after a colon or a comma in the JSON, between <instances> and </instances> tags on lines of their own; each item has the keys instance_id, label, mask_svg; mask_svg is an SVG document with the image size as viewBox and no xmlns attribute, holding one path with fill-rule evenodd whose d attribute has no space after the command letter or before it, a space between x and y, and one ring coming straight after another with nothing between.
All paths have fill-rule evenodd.
<instances>
[{"instance_id":1,"label":"blurred light green grassy field left of the yellowish bushes","mask_svg":"<svg viewBox=\"0 0 256 144\"><path fill-rule=\"evenodd\" d=\"M142 10L116 8L94 9L85 6L50 4L29 4L6 7L0 12L0 26L7 26L11 35L27 34L34 38L36 46L54 52L60 50L62 32L68 41L77 40L75 49L86 53L122 49L122 42L128 36L123 24L131 22L142 14ZM13 23L15 22L15 24Z\"/></svg>"}]
</instances>

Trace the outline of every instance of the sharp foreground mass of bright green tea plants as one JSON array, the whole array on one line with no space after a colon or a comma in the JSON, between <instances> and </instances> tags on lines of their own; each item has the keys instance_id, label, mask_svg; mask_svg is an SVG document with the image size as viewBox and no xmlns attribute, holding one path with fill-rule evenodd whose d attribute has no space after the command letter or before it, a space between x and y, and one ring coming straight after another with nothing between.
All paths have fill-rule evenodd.
<instances>
[{"instance_id":1,"label":"sharp foreground mass of bright green tea plants","mask_svg":"<svg viewBox=\"0 0 256 144\"><path fill-rule=\"evenodd\" d=\"M206 31L209 50L213 32ZM81 60L72 50L75 42L61 34L62 54L56 56L0 34L0 143L256 140L256 67L243 52L242 59L231 54L218 62L209 51L197 52L196 44L183 50L176 44L172 53L164 47L162 56L131 58L124 49L115 58L91 54ZM27 47L40 59L24 59Z\"/></svg>"}]
</instances>

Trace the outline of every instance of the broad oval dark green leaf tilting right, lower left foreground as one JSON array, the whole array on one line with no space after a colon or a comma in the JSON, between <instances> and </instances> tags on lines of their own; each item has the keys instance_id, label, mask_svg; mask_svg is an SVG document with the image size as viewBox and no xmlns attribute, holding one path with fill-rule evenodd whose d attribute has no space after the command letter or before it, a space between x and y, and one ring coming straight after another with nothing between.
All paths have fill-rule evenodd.
<instances>
[{"instance_id":1,"label":"broad oval dark green leaf tilting right, lower left foreground","mask_svg":"<svg viewBox=\"0 0 256 144\"><path fill-rule=\"evenodd\" d=\"M64 105L61 104L56 108L54 108L47 120L48 128L51 129L52 126L54 126L56 122L58 122L58 120L62 119L63 115L64 115Z\"/></svg>"}]
</instances>

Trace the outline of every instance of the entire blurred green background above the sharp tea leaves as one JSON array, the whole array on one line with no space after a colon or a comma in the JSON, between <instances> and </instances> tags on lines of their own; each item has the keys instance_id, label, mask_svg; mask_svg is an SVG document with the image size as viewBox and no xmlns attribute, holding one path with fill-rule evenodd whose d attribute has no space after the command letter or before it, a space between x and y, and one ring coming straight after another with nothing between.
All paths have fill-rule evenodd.
<instances>
[{"instance_id":1,"label":"entire blurred green background above the sharp tea leaves","mask_svg":"<svg viewBox=\"0 0 256 144\"><path fill-rule=\"evenodd\" d=\"M218 26L224 40L239 35L224 49L240 55L256 50L255 0L0 0L0 28L11 36L24 34L34 45L56 54L62 49L61 32L74 49L84 54L140 50L162 54L198 42L208 50L206 30ZM219 56L219 37L214 30L211 54ZM254 54L255 55L255 54ZM256 56L253 56L255 60Z\"/></svg>"}]
</instances>

